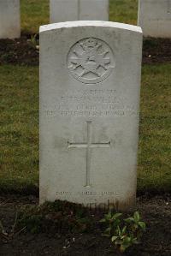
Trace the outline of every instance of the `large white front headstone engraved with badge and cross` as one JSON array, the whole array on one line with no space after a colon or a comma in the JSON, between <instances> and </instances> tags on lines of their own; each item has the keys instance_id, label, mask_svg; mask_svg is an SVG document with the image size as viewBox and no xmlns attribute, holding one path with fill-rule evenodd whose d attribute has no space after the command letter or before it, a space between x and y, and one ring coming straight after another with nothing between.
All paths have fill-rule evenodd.
<instances>
[{"instance_id":1,"label":"large white front headstone engraved with badge and cross","mask_svg":"<svg viewBox=\"0 0 171 256\"><path fill-rule=\"evenodd\" d=\"M142 32L108 21L40 27L40 202L135 202Z\"/></svg>"}]
</instances>

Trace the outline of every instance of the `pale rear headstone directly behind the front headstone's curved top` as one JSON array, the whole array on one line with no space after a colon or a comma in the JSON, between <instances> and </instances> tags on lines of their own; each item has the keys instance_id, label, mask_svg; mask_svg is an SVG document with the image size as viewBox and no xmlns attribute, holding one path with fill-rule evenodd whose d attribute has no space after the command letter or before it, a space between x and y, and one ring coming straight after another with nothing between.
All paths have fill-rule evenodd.
<instances>
[{"instance_id":1,"label":"pale rear headstone directly behind the front headstone's curved top","mask_svg":"<svg viewBox=\"0 0 171 256\"><path fill-rule=\"evenodd\" d=\"M50 0L50 23L109 21L109 0Z\"/></svg>"}]
</instances>

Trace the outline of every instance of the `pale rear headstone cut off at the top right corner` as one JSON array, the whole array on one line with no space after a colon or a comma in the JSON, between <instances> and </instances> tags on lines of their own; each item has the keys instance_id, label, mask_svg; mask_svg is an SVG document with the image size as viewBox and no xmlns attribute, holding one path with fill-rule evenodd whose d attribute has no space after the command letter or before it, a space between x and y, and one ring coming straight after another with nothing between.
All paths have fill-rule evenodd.
<instances>
[{"instance_id":1,"label":"pale rear headstone cut off at the top right corner","mask_svg":"<svg viewBox=\"0 0 171 256\"><path fill-rule=\"evenodd\" d=\"M171 0L139 0L138 25L144 36L171 38Z\"/></svg>"}]
</instances>

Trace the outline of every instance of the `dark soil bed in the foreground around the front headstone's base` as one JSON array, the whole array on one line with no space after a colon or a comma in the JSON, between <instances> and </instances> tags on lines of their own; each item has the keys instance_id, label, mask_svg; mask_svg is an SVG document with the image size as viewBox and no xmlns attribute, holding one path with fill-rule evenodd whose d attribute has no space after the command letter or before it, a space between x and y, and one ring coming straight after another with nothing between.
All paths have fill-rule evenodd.
<instances>
[{"instance_id":1,"label":"dark soil bed in the foreground around the front headstone's base","mask_svg":"<svg viewBox=\"0 0 171 256\"><path fill-rule=\"evenodd\" d=\"M0 196L0 219L4 229L9 232L15 222L15 212L22 205L36 205L34 196L2 195ZM137 209L147 224L142 243L128 249L127 256L170 256L171 255L171 196L140 197ZM97 228L83 234L40 233L32 235L27 230L15 234L9 240L0 236L1 256L76 256L76 255L115 255L115 248L109 238L102 235Z\"/></svg>"}]
</instances>

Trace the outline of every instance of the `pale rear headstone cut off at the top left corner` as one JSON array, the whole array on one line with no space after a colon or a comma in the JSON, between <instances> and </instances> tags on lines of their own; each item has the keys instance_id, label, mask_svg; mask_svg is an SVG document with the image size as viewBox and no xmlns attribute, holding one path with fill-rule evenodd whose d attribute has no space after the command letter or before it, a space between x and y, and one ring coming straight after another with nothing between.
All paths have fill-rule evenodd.
<instances>
[{"instance_id":1,"label":"pale rear headstone cut off at the top left corner","mask_svg":"<svg viewBox=\"0 0 171 256\"><path fill-rule=\"evenodd\" d=\"M20 0L0 0L0 39L15 39L20 36Z\"/></svg>"}]
</instances>

